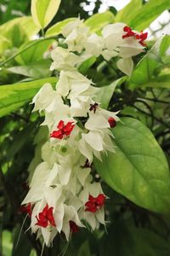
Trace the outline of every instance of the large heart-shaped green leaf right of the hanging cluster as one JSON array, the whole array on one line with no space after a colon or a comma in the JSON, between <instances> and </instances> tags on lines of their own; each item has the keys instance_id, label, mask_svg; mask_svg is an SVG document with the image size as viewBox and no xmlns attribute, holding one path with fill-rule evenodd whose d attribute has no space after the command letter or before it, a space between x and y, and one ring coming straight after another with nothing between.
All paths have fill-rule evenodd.
<instances>
[{"instance_id":1,"label":"large heart-shaped green leaf right of the hanging cluster","mask_svg":"<svg viewBox=\"0 0 170 256\"><path fill-rule=\"evenodd\" d=\"M139 120L122 118L113 130L116 153L95 160L97 172L116 192L137 205L170 212L167 160L150 130Z\"/></svg>"}]
</instances>

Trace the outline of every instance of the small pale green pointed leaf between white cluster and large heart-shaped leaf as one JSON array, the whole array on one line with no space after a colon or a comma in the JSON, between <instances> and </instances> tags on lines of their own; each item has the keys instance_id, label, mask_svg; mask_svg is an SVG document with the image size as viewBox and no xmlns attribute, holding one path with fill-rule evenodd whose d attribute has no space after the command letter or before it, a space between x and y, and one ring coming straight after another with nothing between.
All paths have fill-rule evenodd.
<instances>
[{"instance_id":1,"label":"small pale green pointed leaf between white cluster and large heart-shaped leaf","mask_svg":"<svg viewBox=\"0 0 170 256\"><path fill-rule=\"evenodd\" d=\"M121 85L126 79L127 77L122 77L121 79L117 79L107 86L103 86L97 89L96 99L100 103L101 108L108 108L116 86Z\"/></svg>"}]
</instances>

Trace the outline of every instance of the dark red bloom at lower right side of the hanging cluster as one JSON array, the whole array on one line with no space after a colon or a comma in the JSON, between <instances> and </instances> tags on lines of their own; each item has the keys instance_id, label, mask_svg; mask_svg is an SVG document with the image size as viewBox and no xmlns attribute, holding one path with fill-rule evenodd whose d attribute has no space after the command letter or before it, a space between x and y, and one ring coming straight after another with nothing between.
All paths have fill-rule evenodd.
<instances>
[{"instance_id":1,"label":"dark red bloom at lower right side of the hanging cluster","mask_svg":"<svg viewBox=\"0 0 170 256\"><path fill-rule=\"evenodd\" d=\"M89 195L88 201L85 203L86 212L96 212L105 204L105 195L99 194L97 197Z\"/></svg>"}]
</instances>

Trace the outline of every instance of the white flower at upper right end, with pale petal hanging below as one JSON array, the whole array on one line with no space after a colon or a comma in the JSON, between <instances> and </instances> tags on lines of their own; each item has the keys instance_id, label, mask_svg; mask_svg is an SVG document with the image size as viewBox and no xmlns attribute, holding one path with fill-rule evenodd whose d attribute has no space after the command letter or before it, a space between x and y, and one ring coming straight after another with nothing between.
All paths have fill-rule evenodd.
<instances>
[{"instance_id":1,"label":"white flower at upper right end, with pale petal hanging below","mask_svg":"<svg viewBox=\"0 0 170 256\"><path fill-rule=\"evenodd\" d=\"M102 52L102 55L106 61L110 61L116 55L122 57L117 62L117 67L123 73L130 76L133 71L133 60L131 57L143 52L144 46L140 43L140 39L135 37L137 32L133 32L131 28L127 27L127 30L129 29L131 32L127 34L124 31L125 27L127 26L124 23L115 23L103 28L102 35L104 37L105 50Z\"/></svg>"}]
</instances>

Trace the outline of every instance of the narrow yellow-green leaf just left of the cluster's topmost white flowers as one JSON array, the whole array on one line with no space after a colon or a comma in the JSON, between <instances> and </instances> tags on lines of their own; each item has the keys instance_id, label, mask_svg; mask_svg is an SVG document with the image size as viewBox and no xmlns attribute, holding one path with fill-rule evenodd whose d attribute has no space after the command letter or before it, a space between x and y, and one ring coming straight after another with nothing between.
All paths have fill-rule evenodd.
<instances>
[{"instance_id":1,"label":"narrow yellow-green leaf just left of the cluster's topmost white flowers","mask_svg":"<svg viewBox=\"0 0 170 256\"><path fill-rule=\"evenodd\" d=\"M54 24L54 26L48 28L48 31L45 33L46 37L59 35L62 32L63 27L74 20L77 20L77 18L68 18L66 20L57 22Z\"/></svg>"}]
</instances>

